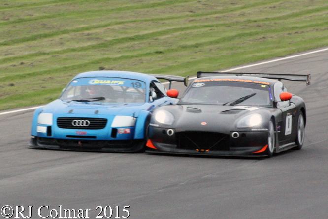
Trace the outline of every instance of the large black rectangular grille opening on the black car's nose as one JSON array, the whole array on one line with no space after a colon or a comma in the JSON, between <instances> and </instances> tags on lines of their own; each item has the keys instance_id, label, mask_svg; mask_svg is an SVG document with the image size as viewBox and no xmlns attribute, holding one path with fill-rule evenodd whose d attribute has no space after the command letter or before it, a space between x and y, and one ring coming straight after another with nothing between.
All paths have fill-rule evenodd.
<instances>
[{"instance_id":1,"label":"large black rectangular grille opening on the black car's nose","mask_svg":"<svg viewBox=\"0 0 328 219\"><path fill-rule=\"evenodd\" d=\"M178 132L177 148L192 150L229 150L229 135L215 132Z\"/></svg>"}]
</instances>

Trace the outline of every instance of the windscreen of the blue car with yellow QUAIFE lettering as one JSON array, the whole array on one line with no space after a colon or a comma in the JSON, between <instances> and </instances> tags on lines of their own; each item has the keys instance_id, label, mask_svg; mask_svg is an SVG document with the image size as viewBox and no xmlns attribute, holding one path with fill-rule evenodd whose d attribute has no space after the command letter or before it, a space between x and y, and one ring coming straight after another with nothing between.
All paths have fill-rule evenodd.
<instances>
[{"instance_id":1,"label":"windscreen of the blue car with yellow QUAIFE lettering","mask_svg":"<svg viewBox=\"0 0 328 219\"><path fill-rule=\"evenodd\" d=\"M79 78L66 87L61 100L100 103L144 103L145 82L113 77Z\"/></svg>"}]
</instances>

